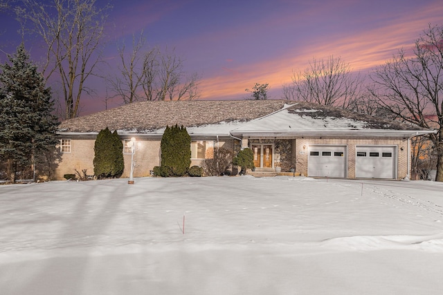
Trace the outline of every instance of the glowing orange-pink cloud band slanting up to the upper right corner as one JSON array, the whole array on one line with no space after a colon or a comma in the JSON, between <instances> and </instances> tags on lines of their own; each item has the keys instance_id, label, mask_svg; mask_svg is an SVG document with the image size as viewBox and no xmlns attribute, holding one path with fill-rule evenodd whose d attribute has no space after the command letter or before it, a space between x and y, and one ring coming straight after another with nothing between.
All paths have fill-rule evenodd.
<instances>
[{"instance_id":1,"label":"glowing orange-pink cloud band slanting up to the upper right corner","mask_svg":"<svg viewBox=\"0 0 443 295\"><path fill-rule=\"evenodd\" d=\"M201 84L202 98L241 97L244 88L255 83L269 83L273 88L280 88L282 84L291 81L294 70L306 68L314 57L340 56L354 70L368 72L386 62L400 48L412 48L415 39L427 28L428 23L438 24L441 15L443 6L433 2L419 10L383 15L383 22L369 28L304 37L300 44L279 48L278 54L260 60L240 63L236 58L237 63L230 65L230 70L215 69L213 73L206 73Z\"/></svg>"}]
</instances>

